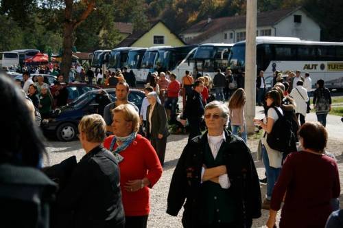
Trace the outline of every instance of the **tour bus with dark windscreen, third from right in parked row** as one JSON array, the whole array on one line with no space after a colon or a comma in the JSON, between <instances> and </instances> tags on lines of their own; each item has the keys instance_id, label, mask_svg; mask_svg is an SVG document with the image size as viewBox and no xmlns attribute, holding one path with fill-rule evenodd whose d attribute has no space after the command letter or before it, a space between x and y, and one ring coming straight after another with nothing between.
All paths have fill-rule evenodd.
<instances>
[{"instance_id":1,"label":"tour bus with dark windscreen, third from right in parked row","mask_svg":"<svg viewBox=\"0 0 343 228\"><path fill-rule=\"evenodd\" d=\"M171 71L178 75L178 66L187 54L198 45L185 45L180 47L156 46L146 50L139 70L137 80L145 82L147 75L154 71ZM185 71L182 71L185 73Z\"/></svg>"}]
</instances>

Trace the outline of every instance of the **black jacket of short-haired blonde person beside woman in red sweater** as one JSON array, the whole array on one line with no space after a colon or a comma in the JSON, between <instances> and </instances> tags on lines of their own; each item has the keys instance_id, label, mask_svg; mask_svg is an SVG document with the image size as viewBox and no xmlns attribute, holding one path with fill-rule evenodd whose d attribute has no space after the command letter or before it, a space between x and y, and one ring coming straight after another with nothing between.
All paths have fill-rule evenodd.
<instances>
[{"instance_id":1,"label":"black jacket of short-haired blonde person beside woman in red sweater","mask_svg":"<svg viewBox=\"0 0 343 228\"><path fill-rule=\"evenodd\" d=\"M119 168L111 152L97 146L76 165L58 193L53 227L123 227Z\"/></svg>"}]
</instances>

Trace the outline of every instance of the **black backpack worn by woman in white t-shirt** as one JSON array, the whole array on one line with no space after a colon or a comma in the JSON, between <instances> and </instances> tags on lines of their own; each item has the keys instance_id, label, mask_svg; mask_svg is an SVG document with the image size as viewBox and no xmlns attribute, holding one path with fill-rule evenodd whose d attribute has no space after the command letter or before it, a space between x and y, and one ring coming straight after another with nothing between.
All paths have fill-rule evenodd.
<instances>
[{"instance_id":1,"label":"black backpack worn by woman in white t-shirt","mask_svg":"<svg viewBox=\"0 0 343 228\"><path fill-rule=\"evenodd\" d=\"M290 115L282 115L273 107L279 119L274 122L272 132L267 135L267 143L270 148L283 153L296 151L298 123Z\"/></svg>"}]
</instances>

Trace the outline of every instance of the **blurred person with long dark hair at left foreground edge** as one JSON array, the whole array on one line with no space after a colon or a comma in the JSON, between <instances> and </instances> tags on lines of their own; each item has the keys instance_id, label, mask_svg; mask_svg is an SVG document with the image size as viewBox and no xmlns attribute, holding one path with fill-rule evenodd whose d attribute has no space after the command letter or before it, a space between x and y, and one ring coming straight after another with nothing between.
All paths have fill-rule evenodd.
<instances>
[{"instance_id":1,"label":"blurred person with long dark hair at left foreground edge","mask_svg":"<svg viewBox=\"0 0 343 228\"><path fill-rule=\"evenodd\" d=\"M45 146L32 109L12 81L0 76L0 205L1 227L49 227L49 203L56 184L38 168Z\"/></svg>"}]
</instances>

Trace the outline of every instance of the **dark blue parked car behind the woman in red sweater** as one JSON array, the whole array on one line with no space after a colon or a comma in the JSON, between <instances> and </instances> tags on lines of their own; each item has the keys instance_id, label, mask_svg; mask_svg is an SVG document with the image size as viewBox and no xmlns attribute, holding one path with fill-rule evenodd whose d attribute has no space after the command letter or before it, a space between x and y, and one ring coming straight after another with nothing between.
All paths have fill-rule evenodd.
<instances>
[{"instance_id":1,"label":"dark blue parked car behind the woman in red sweater","mask_svg":"<svg viewBox=\"0 0 343 228\"><path fill-rule=\"evenodd\" d=\"M112 101L115 101L115 89L104 89ZM95 97L100 90L88 91L73 102L55 111L49 119L43 119L40 124L47 135L56 135L60 141L72 141L78 134L78 124L84 115L97 113ZM138 89L131 89L128 100L141 109L144 93Z\"/></svg>"}]
</instances>

